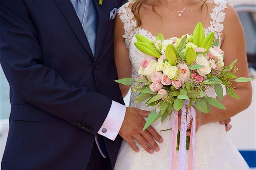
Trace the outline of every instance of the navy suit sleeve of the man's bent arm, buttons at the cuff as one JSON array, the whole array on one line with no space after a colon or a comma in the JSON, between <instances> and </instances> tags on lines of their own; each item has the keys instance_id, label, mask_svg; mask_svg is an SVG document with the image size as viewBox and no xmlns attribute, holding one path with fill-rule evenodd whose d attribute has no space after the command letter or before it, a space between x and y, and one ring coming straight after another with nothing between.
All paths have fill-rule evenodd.
<instances>
[{"instance_id":1,"label":"navy suit sleeve of the man's bent arm, buttons at the cuff","mask_svg":"<svg viewBox=\"0 0 256 170\"><path fill-rule=\"evenodd\" d=\"M23 1L0 1L0 42L3 71L20 99L73 125L82 120L92 127L89 133L97 134L112 100L64 82L42 64L37 32Z\"/></svg>"}]
</instances>

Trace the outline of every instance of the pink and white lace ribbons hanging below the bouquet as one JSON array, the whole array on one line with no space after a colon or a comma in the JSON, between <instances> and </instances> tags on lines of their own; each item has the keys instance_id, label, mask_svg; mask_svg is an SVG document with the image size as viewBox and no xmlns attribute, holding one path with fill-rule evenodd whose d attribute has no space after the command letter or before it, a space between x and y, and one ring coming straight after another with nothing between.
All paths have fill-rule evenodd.
<instances>
[{"instance_id":1,"label":"pink and white lace ribbons hanging below the bouquet","mask_svg":"<svg viewBox=\"0 0 256 170\"><path fill-rule=\"evenodd\" d=\"M186 112L188 110L188 112ZM190 134L190 144L189 144L189 158L187 164L187 154L186 154L186 131L192 119L192 128ZM175 170L175 160L176 160L176 147L177 147L177 133L178 133L178 112L173 108L171 116L171 146L170 146L170 161L169 170ZM188 101L185 101L183 108L181 109L181 122L180 122L180 147L179 147L179 164L178 170L194 170L194 160L195 160L195 109L193 107L188 107ZM188 167L187 167L188 166Z\"/></svg>"}]
</instances>

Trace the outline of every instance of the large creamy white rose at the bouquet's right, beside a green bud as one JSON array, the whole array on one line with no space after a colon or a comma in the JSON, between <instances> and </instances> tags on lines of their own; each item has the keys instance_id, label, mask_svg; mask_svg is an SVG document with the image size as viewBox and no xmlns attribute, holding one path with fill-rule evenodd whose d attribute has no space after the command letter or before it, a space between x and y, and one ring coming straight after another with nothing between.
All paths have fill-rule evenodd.
<instances>
[{"instance_id":1,"label":"large creamy white rose at the bouquet's right, beside a green bud","mask_svg":"<svg viewBox=\"0 0 256 170\"><path fill-rule=\"evenodd\" d=\"M204 55L199 54L198 57L196 58L195 62L198 65L204 65L204 67L202 68L198 68L198 74L200 76L206 76L207 74L209 74L212 71L212 68L209 66L210 62L207 60L207 58L204 57Z\"/></svg>"}]
</instances>

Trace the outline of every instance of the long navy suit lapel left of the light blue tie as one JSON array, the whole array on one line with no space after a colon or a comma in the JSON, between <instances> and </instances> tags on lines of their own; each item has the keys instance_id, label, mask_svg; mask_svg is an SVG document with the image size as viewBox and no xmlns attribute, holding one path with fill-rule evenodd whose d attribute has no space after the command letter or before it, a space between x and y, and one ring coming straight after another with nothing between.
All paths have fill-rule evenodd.
<instances>
[{"instance_id":1,"label":"long navy suit lapel left of the light blue tie","mask_svg":"<svg viewBox=\"0 0 256 170\"><path fill-rule=\"evenodd\" d=\"M55 3L57 3L61 12L64 14L64 17L66 18L67 22L70 24L70 27L76 34L76 37L78 38L78 40L81 42L81 44L83 45L85 50L88 52L90 57L93 59L93 54L90 49L89 42L87 41L87 38L84 34L84 30L81 26L79 18L77 17L76 11L73 8L73 5L70 2L70 0L55 0ZM97 47L97 45L96 45L96 47Z\"/></svg>"}]
</instances>

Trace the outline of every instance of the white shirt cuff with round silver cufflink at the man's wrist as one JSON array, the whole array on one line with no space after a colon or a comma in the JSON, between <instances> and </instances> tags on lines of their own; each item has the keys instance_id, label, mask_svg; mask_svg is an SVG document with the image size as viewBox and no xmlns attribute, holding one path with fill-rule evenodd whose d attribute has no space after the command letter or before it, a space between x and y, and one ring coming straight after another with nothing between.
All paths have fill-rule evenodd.
<instances>
[{"instance_id":1,"label":"white shirt cuff with round silver cufflink at the man's wrist","mask_svg":"<svg viewBox=\"0 0 256 170\"><path fill-rule=\"evenodd\" d=\"M125 105L112 101L108 116L103 122L103 125L99 129L98 133L114 141L122 126L122 122L125 119L125 111Z\"/></svg>"}]
</instances>

